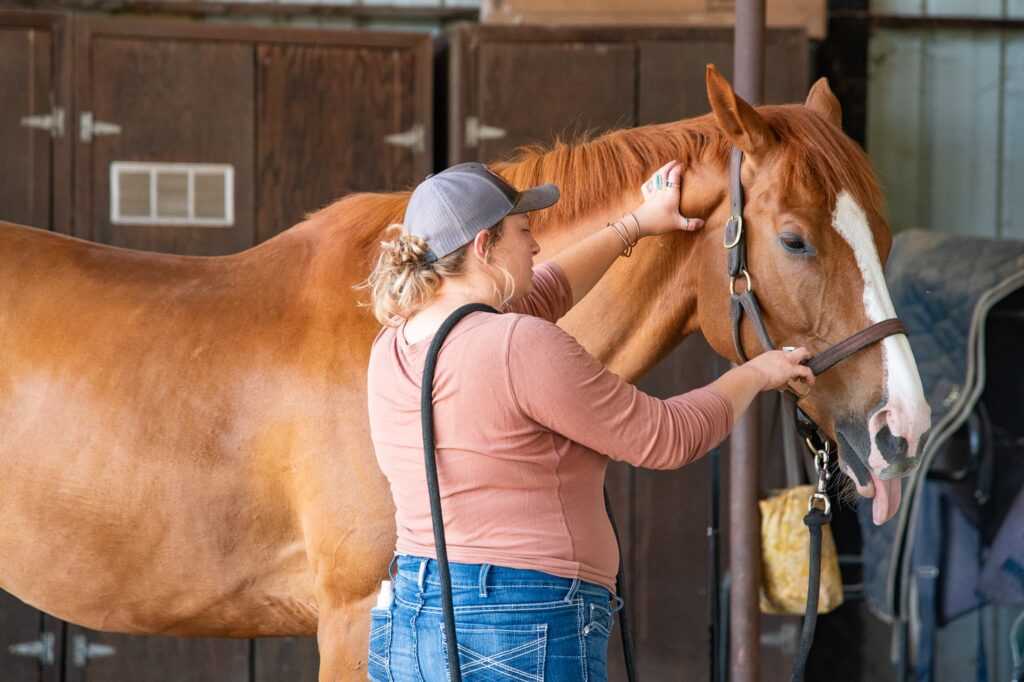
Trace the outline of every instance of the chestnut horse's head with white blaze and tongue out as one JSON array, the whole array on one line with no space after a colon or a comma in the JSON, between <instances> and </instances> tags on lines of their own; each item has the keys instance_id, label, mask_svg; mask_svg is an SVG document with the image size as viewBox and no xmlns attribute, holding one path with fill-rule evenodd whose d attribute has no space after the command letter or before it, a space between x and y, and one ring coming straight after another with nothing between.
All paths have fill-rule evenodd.
<instances>
[{"instance_id":1,"label":"chestnut horse's head with white blaze and tongue out","mask_svg":"<svg viewBox=\"0 0 1024 682\"><path fill-rule=\"evenodd\" d=\"M825 79L803 105L755 109L709 66L708 96L727 141L743 153L748 266L772 340L819 353L895 317L883 275L892 237L879 181L843 133ZM699 325L719 353L737 359L723 253L729 202L709 209L698 245ZM748 323L741 343L750 356L762 351ZM800 407L839 443L843 471L873 498L874 522L888 520L899 506L899 477L916 466L931 425L906 337L885 338L823 373Z\"/></svg>"}]
</instances>

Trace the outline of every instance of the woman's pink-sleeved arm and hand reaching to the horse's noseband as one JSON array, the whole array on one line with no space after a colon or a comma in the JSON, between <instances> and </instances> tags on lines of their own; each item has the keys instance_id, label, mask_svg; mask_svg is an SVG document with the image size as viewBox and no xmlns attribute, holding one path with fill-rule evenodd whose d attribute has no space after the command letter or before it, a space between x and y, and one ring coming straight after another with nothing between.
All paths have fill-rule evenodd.
<instances>
[{"instance_id":1,"label":"woman's pink-sleeved arm and hand reaching to the horse's noseband","mask_svg":"<svg viewBox=\"0 0 1024 682\"><path fill-rule=\"evenodd\" d=\"M548 429L613 460L673 469L702 456L728 434L759 390L809 377L805 350L771 351L708 388L666 400L647 395L595 359L562 329L517 318L505 366L514 403Z\"/></svg>"}]
</instances>

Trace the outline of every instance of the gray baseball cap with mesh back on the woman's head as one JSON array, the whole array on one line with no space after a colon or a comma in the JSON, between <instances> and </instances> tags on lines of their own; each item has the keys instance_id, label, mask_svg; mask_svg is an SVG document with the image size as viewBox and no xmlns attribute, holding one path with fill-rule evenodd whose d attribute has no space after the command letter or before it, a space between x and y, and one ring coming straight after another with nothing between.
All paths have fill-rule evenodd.
<instances>
[{"instance_id":1,"label":"gray baseball cap with mesh back on the woman's head","mask_svg":"<svg viewBox=\"0 0 1024 682\"><path fill-rule=\"evenodd\" d=\"M426 260L432 263L505 216L548 208L559 196L551 183L519 191L483 164L470 162L428 175L413 190L403 223L430 247Z\"/></svg>"}]
</instances>

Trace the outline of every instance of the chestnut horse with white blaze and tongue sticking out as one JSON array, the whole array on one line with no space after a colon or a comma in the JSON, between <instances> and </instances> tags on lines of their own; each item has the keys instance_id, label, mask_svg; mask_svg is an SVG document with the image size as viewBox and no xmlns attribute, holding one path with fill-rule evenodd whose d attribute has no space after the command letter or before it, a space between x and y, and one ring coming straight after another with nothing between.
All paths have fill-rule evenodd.
<instances>
[{"instance_id":1,"label":"chestnut horse with white blaze and tongue sticking out","mask_svg":"<svg viewBox=\"0 0 1024 682\"><path fill-rule=\"evenodd\" d=\"M685 163L683 213L708 226L644 240L559 323L629 381L697 330L735 357L733 145L776 342L821 350L893 314L878 181L827 84L754 109L709 68L708 92L711 115L499 166L518 186L562 188L531 216L540 261L637 205L665 161ZM97 630L316 634L322 680L364 677L395 527L366 413L378 325L353 286L408 199L351 196L213 258L0 225L0 587ZM744 347L758 349L749 329ZM906 339L823 375L802 404L877 521L891 516L929 427Z\"/></svg>"}]
</instances>

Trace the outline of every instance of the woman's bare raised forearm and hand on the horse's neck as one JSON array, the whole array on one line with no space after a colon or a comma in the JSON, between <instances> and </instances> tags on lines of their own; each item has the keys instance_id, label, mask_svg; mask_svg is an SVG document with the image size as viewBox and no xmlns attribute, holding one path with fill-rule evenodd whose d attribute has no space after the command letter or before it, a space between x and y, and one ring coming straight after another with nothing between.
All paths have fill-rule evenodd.
<instances>
[{"instance_id":1,"label":"woman's bare raised forearm and hand on the horse's neck","mask_svg":"<svg viewBox=\"0 0 1024 682\"><path fill-rule=\"evenodd\" d=\"M644 183L644 203L633 212L640 223L641 239L674 229L692 231L703 226L703 220L684 218L679 212L682 176L682 164L673 161L657 169ZM633 219L626 215L623 222L629 237L635 237ZM561 266L569 281L573 305L594 288L625 248L622 238L610 227L605 227L551 258Z\"/></svg>"}]
</instances>

